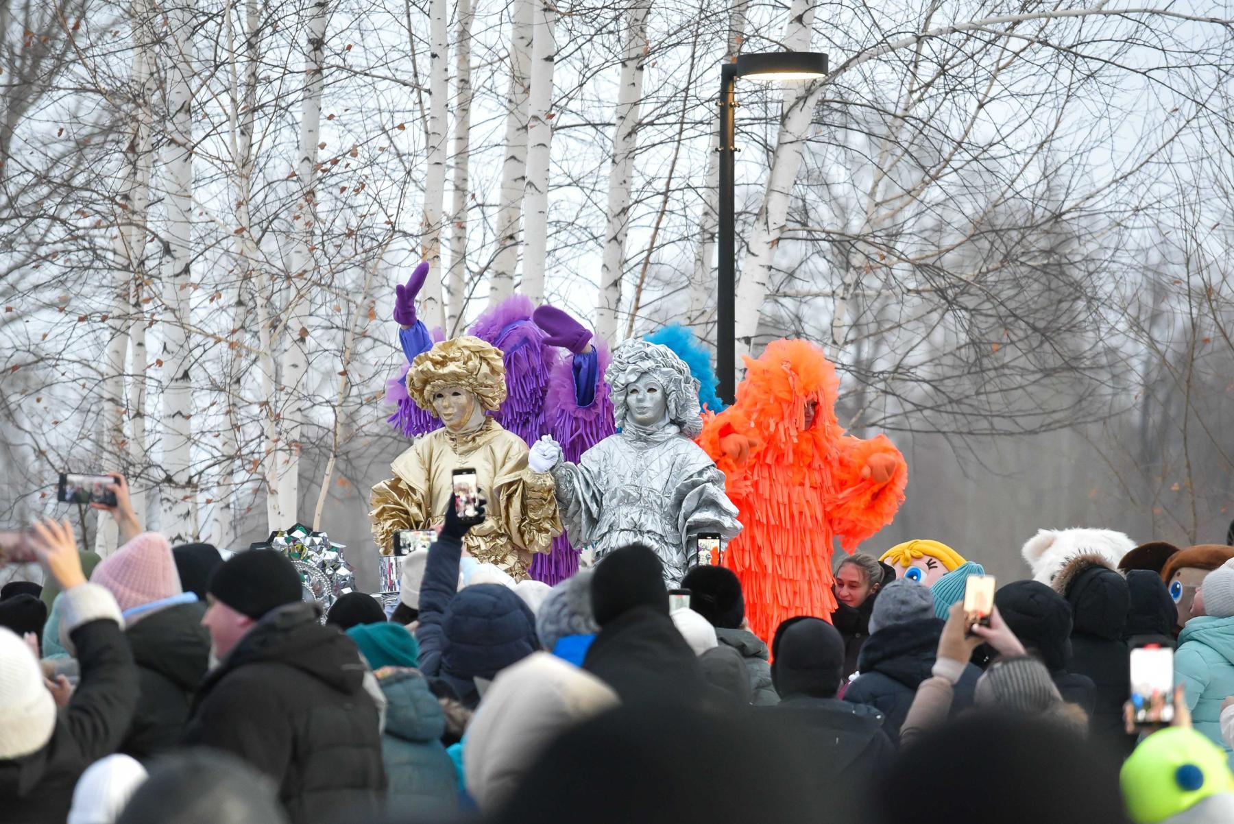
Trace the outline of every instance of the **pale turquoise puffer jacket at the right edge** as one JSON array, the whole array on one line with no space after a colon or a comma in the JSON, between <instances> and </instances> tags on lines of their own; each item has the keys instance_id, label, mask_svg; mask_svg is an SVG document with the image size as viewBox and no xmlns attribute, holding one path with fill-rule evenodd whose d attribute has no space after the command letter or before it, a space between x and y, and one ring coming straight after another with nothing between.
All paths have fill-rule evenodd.
<instances>
[{"instance_id":1,"label":"pale turquoise puffer jacket at the right edge","mask_svg":"<svg viewBox=\"0 0 1234 824\"><path fill-rule=\"evenodd\" d=\"M1174 674L1187 688L1192 724L1225 750L1234 767L1220 724L1222 702L1234 696L1234 617L1201 616L1188 620L1178 634Z\"/></svg>"}]
</instances>

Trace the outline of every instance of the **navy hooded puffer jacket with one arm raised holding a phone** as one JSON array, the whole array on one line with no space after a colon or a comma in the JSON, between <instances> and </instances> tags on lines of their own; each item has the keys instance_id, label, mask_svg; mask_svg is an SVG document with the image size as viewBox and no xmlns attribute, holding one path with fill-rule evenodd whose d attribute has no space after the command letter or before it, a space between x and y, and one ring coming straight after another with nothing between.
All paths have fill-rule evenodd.
<instances>
[{"instance_id":1,"label":"navy hooded puffer jacket with one arm raised holding a phone","mask_svg":"<svg viewBox=\"0 0 1234 824\"><path fill-rule=\"evenodd\" d=\"M497 672L539 649L536 617L515 592L478 583L455 592L463 542L441 535L428 548L420 590L420 670L438 678L469 708L480 703L475 678Z\"/></svg>"}]
</instances>

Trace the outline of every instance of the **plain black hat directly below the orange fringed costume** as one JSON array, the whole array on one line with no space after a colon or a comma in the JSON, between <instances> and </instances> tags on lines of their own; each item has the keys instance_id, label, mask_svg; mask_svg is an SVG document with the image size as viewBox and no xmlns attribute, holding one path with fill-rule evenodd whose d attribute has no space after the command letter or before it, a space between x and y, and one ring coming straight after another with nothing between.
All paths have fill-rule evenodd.
<instances>
[{"instance_id":1,"label":"plain black hat directly below the orange fringed costume","mask_svg":"<svg viewBox=\"0 0 1234 824\"><path fill-rule=\"evenodd\" d=\"M826 620L797 616L776 627L771 639L771 683L781 698L834 698L843 674L844 639Z\"/></svg>"}]
</instances>

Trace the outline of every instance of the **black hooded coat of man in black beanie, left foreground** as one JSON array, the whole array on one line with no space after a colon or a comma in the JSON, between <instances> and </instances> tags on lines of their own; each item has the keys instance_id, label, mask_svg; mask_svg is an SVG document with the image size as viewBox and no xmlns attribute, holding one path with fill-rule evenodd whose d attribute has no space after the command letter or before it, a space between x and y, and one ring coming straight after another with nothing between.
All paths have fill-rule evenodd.
<instances>
[{"instance_id":1,"label":"black hooded coat of man in black beanie, left foreground","mask_svg":"<svg viewBox=\"0 0 1234 824\"><path fill-rule=\"evenodd\" d=\"M185 744L270 776L294 824L366 820L386 777L378 708L350 638L297 602L267 613L201 683Z\"/></svg>"}]
</instances>

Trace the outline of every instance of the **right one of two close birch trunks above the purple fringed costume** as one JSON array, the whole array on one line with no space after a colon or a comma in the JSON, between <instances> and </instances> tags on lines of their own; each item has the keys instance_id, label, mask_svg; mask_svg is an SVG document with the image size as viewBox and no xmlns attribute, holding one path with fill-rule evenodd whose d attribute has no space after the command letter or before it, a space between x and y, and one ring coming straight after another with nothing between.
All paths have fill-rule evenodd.
<instances>
[{"instance_id":1,"label":"right one of two close birch trunks above the purple fringed costume","mask_svg":"<svg viewBox=\"0 0 1234 824\"><path fill-rule=\"evenodd\" d=\"M536 0L532 17L532 70L527 115L527 189L523 199L522 292L544 300L548 266L548 171L553 149L553 68L557 62L557 7Z\"/></svg>"}]
</instances>

